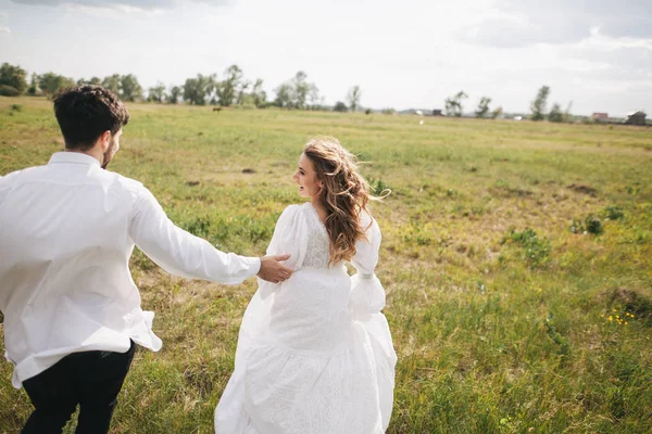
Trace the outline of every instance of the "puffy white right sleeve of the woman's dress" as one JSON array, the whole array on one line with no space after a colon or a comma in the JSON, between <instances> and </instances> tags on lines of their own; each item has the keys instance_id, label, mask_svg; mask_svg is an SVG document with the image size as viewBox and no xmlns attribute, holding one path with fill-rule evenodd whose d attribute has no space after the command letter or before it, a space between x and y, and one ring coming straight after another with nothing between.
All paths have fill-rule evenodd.
<instances>
[{"instance_id":1,"label":"puffy white right sleeve of the woman's dress","mask_svg":"<svg viewBox=\"0 0 652 434\"><path fill-rule=\"evenodd\" d=\"M355 255L351 263L358 270L351 277L351 298L349 307L354 314L377 314L385 307L385 290L375 273L380 248L380 228L375 219L364 215L363 227L366 240L355 244Z\"/></svg>"}]
</instances>

